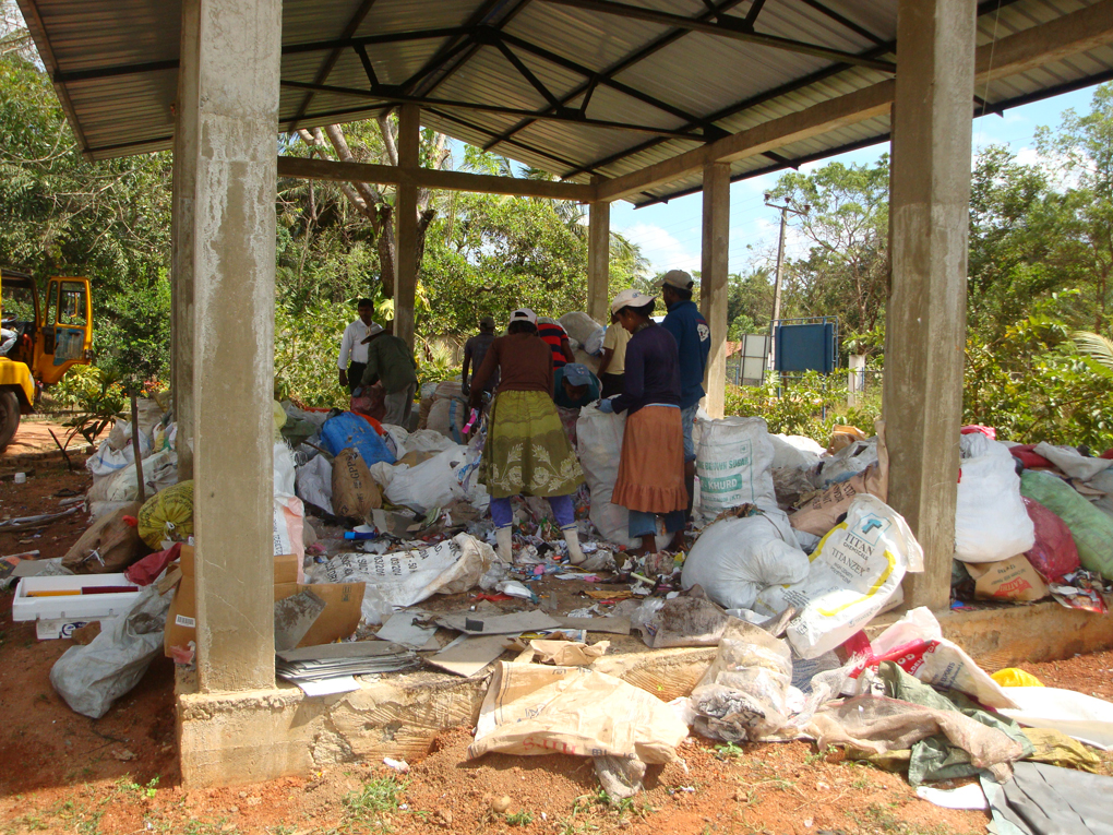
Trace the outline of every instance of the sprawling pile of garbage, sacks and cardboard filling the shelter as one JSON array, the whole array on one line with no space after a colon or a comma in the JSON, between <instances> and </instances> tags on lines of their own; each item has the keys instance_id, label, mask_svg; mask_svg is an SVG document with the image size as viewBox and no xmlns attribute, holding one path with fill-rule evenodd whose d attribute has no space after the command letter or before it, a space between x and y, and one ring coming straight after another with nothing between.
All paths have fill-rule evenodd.
<instances>
[{"instance_id":1,"label":"sprawling pile of garbage, sacks and cardboard filling the shelter","mask_svg":"<svg viewBox=\"0 0 1113 835\"><path fill-rule=\"evenodd\" d=\"M598 353L600 325L561 322L584 360ZM666 551L661 536L661 550L634 558L627 510L610 501L624 418L584 407L574 503L588 559L572 566L548 503L531 498L515 500L513 559L500 559L476 479L485 424L471 420L460 384L427 386L420 413L410 432L275 404L276 670L307 697L421 665L486 676L472 756L591 756L612 797L638 790L647 764L678 758L690 729L733 744L815 739L906 770L914 785L973 775L997 785L1021 760L1062 765L1041 759L1051 749L1092 762L1058 731L1113 745L1113 705L1003 686L1014 674L981 669L925 609L867 638L904 602L905 576L924 569L886 503L883 422L870 436L837 428L824 446L771 434L760 418L702 415L690 548ZM105 613L51 621L59 635L100 623L51 674L87 716L102 716L159 652L196 664L193 483L177 483L176 435L157 404L136 428L117 424L88 463L92 524L60 564L24 578L13 603L31 611L50 599L31 580L57 590L100 574L114 590L93 596ZM1051 596L1105 612L1113 454L1005 444L986 428L958 440L955 605ZM631 632L651 649L708 647L715 658L667 704L603 671Z\"/></svg>"}]
</instances>

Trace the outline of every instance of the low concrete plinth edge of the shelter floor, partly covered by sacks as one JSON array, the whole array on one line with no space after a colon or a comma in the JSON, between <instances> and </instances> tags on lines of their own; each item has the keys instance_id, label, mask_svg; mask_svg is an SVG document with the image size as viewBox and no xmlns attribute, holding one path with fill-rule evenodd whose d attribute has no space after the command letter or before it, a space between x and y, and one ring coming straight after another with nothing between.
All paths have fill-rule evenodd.
<instances>
[{"instance_id":1,"label":"low concrete plinth edge of the shelter floor, partly covered by sacks","mask_svg":"<svg viewBox=\"0 0 1113 835\"><path fill-rule=\"evenodd\" d=\"M1113 648L1113 618L1036 603L973 612L936 612L946 637L989 671L1025 661L1070 658ZM870 637L897 620L892 612L867 628ZM692 691L715 647L648 649L636 636L610 636L612 650L592 669L669 701ZM307 775L322 766L425 756L436 736L474 727L489 677L440 672L386 676L354 692L306 698L296 687L197 692L180 674L178 743L187 788Z\"/></svg>"}]
</instances>

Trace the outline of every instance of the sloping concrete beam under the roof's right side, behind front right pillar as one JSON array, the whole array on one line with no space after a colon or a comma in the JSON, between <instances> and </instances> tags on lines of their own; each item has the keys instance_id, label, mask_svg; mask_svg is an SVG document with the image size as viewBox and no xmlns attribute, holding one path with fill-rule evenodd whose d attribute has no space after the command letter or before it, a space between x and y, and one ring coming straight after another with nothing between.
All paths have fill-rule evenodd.
<instances>
[{"instance_id":1,"label":"sloping concrete beam under the roof's right side, behind front right pillar","mask_svg":"<svg viewBox=\"0 0 1113 835\"><path fill-rule=\"evenodd\" d=\"M1025 29L975 51L975 84L1004 78L1113 42L1113 0ZM599 199L613 200L680 179L705 165L764 154L801 139L888 114L894 81L883 81L821 101L779 119L666 159L599 185Z\"/></svg>"}]
</instances>

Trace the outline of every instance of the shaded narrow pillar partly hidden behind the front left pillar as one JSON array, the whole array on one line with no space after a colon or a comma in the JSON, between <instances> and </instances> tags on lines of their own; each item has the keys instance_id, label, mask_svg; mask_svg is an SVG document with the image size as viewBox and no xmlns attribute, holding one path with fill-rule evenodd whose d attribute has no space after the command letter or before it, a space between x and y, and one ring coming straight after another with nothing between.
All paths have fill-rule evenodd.
<instances>
[{"instance_id":1,"label":"shaded narrow pillar partly hidden behind the front left pillar","mask_svg":"<svg viewBox=\"0 0 1113 835\"><path fill-rule=\"evenodd\" d=\"M170 216L170 389L178 424L178 481L194 478L194 200L197 189L197 18L181 10L178 100L174 127L174 194Z\"/></svg>"}]
</instances>

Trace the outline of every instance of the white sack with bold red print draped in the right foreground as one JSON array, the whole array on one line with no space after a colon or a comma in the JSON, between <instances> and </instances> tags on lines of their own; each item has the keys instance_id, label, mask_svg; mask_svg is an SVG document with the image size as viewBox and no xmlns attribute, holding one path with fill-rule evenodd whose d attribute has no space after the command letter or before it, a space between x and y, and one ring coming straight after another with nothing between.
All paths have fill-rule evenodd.
<instances>
[{"instance_id":1,"label":"white sack with bold red print draped in the right foreground","mask_svg":"<svg viewBox=\"0 0 1113 835\"><path fill-rule=\"evenodd\" d=\"M939 621L926 607L913 609L890 626L873 645L859 632L845 649L863 658L850 674L844 692L855 695L855 682L866 670L877 670L881 661L895 661L900 669L920 681L940 689L954 689L993 708L1014 707L1005 689L975 664L957 644L943 637Z\"/></svg>"}]
</instances>

